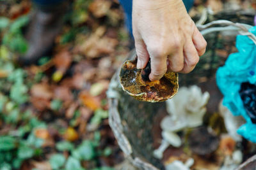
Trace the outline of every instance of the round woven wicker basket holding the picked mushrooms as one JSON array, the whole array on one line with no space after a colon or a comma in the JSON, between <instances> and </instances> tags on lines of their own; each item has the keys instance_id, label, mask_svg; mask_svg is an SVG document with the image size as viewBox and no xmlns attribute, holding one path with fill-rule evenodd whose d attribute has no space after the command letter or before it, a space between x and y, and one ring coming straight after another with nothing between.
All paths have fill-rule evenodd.
<instances>
[{"instance_id":1,"label":"round woven wicker basket holding the picked mushrooms","mask_svg":"<svg viewBox=\"0 0 256 170\"><path fill-rule=\"evenodd\" d=\"M225 17L234 22L253 25L254 12L226 11L210 16L211 20ZM211 22L207 20L207 22ZM217 27L221 26L217 24ZM236 51L235 40L237 32L214 31L207 33L207 52L193 72L180 74L180 86L188 86L214 80L216 69L223 65L228 55ZM127 59L134 59L136 53L131 52ZM118 145L132 164L139 169L164 169L159 159L152 155L154 122L161 117L165 110L165 103L145 103L136 101L128 96L119 82L119 71L113 76L108 90L109 125L113 130ZM213 81L214 82L214 81ZM124 168L125 169L125 168Z\"/></svg>"}]
</instances>

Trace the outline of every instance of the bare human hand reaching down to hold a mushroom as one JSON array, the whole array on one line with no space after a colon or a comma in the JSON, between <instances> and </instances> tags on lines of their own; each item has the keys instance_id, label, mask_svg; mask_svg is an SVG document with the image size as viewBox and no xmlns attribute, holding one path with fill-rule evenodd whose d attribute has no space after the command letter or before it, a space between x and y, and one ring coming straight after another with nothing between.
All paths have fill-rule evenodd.
<instances>
[{"instance_id":1,"label":"bare human hand reaching down to hold a mushroom","mask_svg":"<svg viewBox=\"0 0 256 170\"><path fill-rule=\"evenodd\" d=\"M133 0L132 29L137 68L151 62L151 81L167 69L189 73L205 53L206 41L189 17L182 0Z\"/></svg>"}]
</instances>

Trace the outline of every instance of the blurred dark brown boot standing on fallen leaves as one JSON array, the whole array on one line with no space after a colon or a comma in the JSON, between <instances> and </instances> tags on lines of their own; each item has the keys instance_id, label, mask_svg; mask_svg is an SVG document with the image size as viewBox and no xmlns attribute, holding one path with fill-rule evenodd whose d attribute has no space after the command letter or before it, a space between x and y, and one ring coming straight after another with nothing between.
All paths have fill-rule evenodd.
<instances>
[{"instance_id":1,"label":"blurred dark brown boot standing on fallen leaves","mask_svg":"<svg viewBox=\"0 0 256 170\"><path fill-rule=\"evenodd\" d=\"M54 4L35 3L31 21L25 32L29 48L24 56L19 57L20 64L34 64L40 57L51 52L54 39L63 25L63 16L67 11L67 4L67 1L58 1Z\"/></svg>"}]
</instances>

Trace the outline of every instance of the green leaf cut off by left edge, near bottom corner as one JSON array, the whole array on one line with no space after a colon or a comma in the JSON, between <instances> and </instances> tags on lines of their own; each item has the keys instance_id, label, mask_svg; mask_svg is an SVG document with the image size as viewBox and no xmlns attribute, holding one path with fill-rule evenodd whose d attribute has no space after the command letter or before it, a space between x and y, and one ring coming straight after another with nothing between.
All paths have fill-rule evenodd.
<instances>
[{"instance_id":1,"label":"green leaf cut off by left edge, near bottom corner","mask_svg":"<svg viewBox=\"0 0 256 170\"><path fill-rule=\"evenodd\" d=\"M16 148L16 139L11 136L0 136L0 152Z\"/></svg>"}]
</instances>

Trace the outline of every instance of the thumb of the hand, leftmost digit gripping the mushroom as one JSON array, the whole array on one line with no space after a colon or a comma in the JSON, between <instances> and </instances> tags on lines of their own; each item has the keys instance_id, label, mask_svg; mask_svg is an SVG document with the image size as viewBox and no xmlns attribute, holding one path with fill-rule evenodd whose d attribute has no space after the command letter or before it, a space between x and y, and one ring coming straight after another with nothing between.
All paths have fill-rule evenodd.
<instances>
[{"instance_id":1,"label":"thumb of the hand, leftmost digit gripping the mushroom","mask_svg":"<svg viewBox=\"0 0 256 170\"><path fill-rule=\"evenodd\" d=\"M142 39L137 39L135 40L135 48L138 56L137 69L143 69L147 66L149 60L147 46Z\"/></svg>"}]
</instances>

